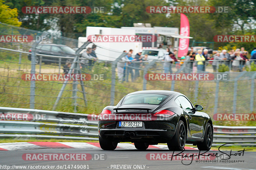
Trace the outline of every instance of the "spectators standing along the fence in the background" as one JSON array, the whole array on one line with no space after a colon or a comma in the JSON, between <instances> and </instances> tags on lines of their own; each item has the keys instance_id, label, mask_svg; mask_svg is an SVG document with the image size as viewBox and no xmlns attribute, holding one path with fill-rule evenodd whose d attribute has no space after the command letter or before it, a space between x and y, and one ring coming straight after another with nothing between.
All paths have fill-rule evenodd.
<instances>
[{"instance_id":1,"label":"spectators standing along the fence in the background","mask_svg":"<svg viewBox=\"0 0 256 170\"><path fill-rule=\"evenodd\" d=\"M82 70L92 70L95 61L97 61L97 56L95 53L96 47L96 45L93 45L92 48L87 48L86 51L82 53L82 59L80 60L80 68ZM128 52L126 50L123 52L126 53L126 55L119 60L116 65L118 80L120 82L128 81L130 76L131 80L135 81L138 77L140 77L141 67L145 67L145 63L148 61L148 55L145 54L142 56L142 50L140 50L136 55L132 55L132 49L130 49ZM177 50L172 52L169 48L166 48L166 53L162 60L163 72L172 73L173 66L176 66L176 68L180 68L181 66L184 67L183 71L185 73L205 71L205 66L208 63L212 65L214 72L217 71L220 64L225 64L231 67L233 71L242 71L245 65L250 65L250 61L252 59L256 59L256 48L251 51L251 57L249 56L249 52L245 51L243 47L241 49L236 48L236 50L232 49L230 51L225 49L222 51L214 50L212 51L212 55L210 55L208 52L208 49L199 49L196 52L193 52L193 48L191 48L191 51L188 51L187 54L184 54L184 56L178 59L176 57L178 53ZM68 73L70 66L70 61L64 65L63 70L65 74Z\"/></svg>"}]
</instances>

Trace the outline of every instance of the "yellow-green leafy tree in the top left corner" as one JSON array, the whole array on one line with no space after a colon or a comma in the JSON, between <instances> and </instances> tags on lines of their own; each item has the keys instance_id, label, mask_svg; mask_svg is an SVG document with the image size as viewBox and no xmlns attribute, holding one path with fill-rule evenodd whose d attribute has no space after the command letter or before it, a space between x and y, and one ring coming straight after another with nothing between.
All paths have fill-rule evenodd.
<instances>
[{"instance_id":1,"label":"yellow-green leafy tree in the top left corner","mask_svg":"<svg viewBox=\"0 0 256 170\"><path fill-rule=\"evenodd\" d=\"M20 26L21 22L18 20L17 17L17 9L10 9L8 5L4 4L3 0L0 0L0 22L14 26Z\"/></svg>"}]
</instances>

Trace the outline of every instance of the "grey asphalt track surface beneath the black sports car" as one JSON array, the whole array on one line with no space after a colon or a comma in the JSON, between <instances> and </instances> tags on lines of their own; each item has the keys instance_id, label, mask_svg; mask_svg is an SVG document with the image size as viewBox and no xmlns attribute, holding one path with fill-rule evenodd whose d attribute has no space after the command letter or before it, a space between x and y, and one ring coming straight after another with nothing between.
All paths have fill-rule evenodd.
<instances>
[{"instance_id":1,"label":"grey asphalt track surface beneath the black sports car","mask_svg":"<svg viewBox=\"0 0 256 170\"><path fill-rule=\"evenodd\" d=\"M185 150L183 153L198 153L198 150ZM225 153L230 153L230 151L223 151ZM81 161L81 160L23 160L23 154L47 154L47 153L58 153L58 154L67 154L67 153L89 153L92 155L92 159ZM99 170L110 170L110 169L147 169L147 170L160 170L160 169L188 169L188 170L216 170L216 169L228 169L228 170L256 170L256 152L244 152L242 155L232 155L229 161L231 160L244 160L244 162L219 162L218 163L202 163L193 160L190 165L183 165L181 160L148 160L146 155L148 153L172 153L167 148L149 148L146 151L139 151L133 148L121 148L117 147L115 151L103 151L99 147L93 148L52 148L52 149L32 149L32 150L17 150L17 151L1 151L0 152L0 169L4 168L4 165L10 166L10 169L24 169L18 168L17 166L55 166L53 169L99 169ZM174 152L178 153L178 152ZM219 151L209 151L209 153L219 153ZM232 151L233 154L237 153ZM105 160L94 160L95 155L104 154ZM103 159L104 159L103 158ZM184 164L189 164L191 160L183 161ZM14 165L14 166L13 166ZM59 168L56 166L59 165ZM75 167L75 165L83 165L82 168ZM86 166L84 166L86 165ZM114 166L116 165L116 166ZM118 166L117 166L118 165ZM124 165L131 165L131 168ZM140 166L137 166L140 165ZM63 166L63 168L60 168ZM68 168L69 166L69 168ZM71 166L73 166L71 168ZM123 167L121 167L123 166ZM14 168L16 167L16 168ZM65 168L66 167L66 168ZM86 168L84 168L86 167ZM26 168L28 169L28 167ZM29 169L39 169L39 168L29 168Z\"/></svg>"}]
</instances>

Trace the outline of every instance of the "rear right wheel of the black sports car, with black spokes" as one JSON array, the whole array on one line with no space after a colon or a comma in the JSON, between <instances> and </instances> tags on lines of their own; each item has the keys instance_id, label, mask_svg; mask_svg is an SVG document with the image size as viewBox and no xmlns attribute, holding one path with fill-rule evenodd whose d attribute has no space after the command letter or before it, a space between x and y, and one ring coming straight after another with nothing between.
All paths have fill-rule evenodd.
<instances>
[{"instance_id":1,"label":"rear right wheel of the black sports car, with black spokes","mask_svg":"<svg viewBox=\"0 0 256 170\"><path fill-rule=\"evenodd\" d=\"M172 140L167 143L170 151L182 151L187 140L185 124L182 120L179 121L176 132Z\"/></svg>"}]
</instances>

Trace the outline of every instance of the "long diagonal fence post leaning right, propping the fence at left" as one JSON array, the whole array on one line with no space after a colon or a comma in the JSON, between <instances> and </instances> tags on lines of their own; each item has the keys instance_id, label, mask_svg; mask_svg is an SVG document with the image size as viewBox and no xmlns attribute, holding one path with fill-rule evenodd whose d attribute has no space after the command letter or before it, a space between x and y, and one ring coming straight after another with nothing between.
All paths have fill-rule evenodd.
<instances>
[{"instance_id":1,"label":"long diagonal fence post leaning right, propping the fence at left","mask_svg":"<svg viewBox=\"0 0 256 170\"><path fill-rule=\"evenodd\" d=\"M76 50L76 57L74 58L74 60L73 60L73 62L72 62L72 64L71 64L71 66L70 66L70 68L69 68L69 70L68 70L68 74L71 74L72 70L75 68L76 61L79 60L79 53L80 53L84 48L86 48L86 46L87 46L88 44L90 44L90 43L91 43L91 42L87 41L87 42L85 42L78 50ZM52 107L53 110L56 109L57 104L58 104L59 101L60 101L60 98L61 98L61 96L62 96L62 93L63 93L63 91L64 91L64 89L65 89L67 83L68 83L68 80L65 80L64 83L63 83L63 85L62 85L62 87L61 87L61 89L60 89L60 92L59 92L59 94L58 94L58 97L57 97L57 99L56 99L56 101L55 101L55 103L54 103L54 105L53 105L53 107Z\"/></svg>"}]
</instances>

